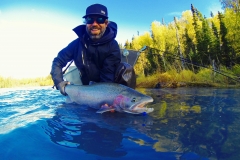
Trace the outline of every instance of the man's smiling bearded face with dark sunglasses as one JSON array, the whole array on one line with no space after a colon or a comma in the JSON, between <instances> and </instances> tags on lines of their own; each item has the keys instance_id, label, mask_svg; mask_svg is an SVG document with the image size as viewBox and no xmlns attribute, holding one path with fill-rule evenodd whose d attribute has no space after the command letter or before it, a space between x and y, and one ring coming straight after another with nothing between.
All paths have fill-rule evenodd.
<instances>
[{"instance_id":1,"label":"man's smiling bearded face with dark sunglasses","mask_svg":"<svg viewBox=\"0 0 240 160\"><path fill-rule=\"evenodd\" d=\"M100 39L104 34L108 20L105 17L92 15L86 17L86 30L93 40Z\"/></svg>"}]
</instances>

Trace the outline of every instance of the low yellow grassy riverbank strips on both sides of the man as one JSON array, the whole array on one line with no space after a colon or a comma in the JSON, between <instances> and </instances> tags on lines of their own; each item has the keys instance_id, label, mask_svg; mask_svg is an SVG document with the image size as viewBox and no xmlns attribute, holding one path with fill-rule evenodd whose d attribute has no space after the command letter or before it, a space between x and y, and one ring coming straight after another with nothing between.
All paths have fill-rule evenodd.
<instances>
[{"instance_id":1,"label":"low yellow grassy riverbank strips on both sides of the man","mask_svg":"<svg viewBox=\"0 0 240 160\"><path fill-rule=\"evenodd\" d=\"M50 75L32 79L13 79L0 77L0 88L53 86ZM218 87L240 88L240 80L214 74L210 69L200 70L197 74L189 70L157 73L149 76L137 74L137 88L177 88L177 87Z\"/></svg>"}]
</instances>

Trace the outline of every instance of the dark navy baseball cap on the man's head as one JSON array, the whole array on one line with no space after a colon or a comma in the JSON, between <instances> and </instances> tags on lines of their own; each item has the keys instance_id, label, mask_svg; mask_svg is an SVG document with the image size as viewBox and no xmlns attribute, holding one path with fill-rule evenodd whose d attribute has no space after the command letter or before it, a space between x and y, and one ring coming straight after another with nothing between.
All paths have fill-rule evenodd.
<instances>
[{"instance_id":1,"label":"dark navy baseball cap on the man's head","mask_svg":"<svg viewBox=\"0 0 240 160\"><path fill-rule=\"evenodd\" d=\"M89 15L101 15L108 18L107 7L101 4L93 4L86 9L86 15L83 18Z\"/></svg>"}]
</instances>

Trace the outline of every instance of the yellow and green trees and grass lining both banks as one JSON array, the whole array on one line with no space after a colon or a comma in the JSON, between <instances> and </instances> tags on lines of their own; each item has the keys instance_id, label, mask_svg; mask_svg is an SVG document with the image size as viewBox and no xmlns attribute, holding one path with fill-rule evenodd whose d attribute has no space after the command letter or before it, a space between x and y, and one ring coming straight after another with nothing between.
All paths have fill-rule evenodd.
<instances>
[{"instance_id":1,"label":"yellow and green trees and grass lining both banks","mask_svg":"<svg viewBox=\"0 0 240 160\"><path fill-rule=\"evenodd\" d=\"M126 41L120 48L140 50L134 66L140 87L157 83L240 82L240 0L220 0L224 12L209 13L189 6L171 23L154 21L150 31ZM0 76L0 88L53 85L51 76L16 80Z\"/></svg>"}]
</instances>

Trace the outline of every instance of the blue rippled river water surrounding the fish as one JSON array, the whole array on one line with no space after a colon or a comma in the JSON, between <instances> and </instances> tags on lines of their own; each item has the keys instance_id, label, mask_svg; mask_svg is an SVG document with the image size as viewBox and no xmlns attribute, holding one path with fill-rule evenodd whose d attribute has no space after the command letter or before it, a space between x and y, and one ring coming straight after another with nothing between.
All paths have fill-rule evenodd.
<instances>
[{"instance_id":1,"label":"blue rippled river water surrounding the fish","mask_svg":"<svg viewBox=\"0 0 240 160\"><path fill-rule=\"evenodd\" d=\"M240 89L138 90L154 112L97 114L51 87L0 89L0 159L240 159Z\"/></svg>"}]
</instances>

